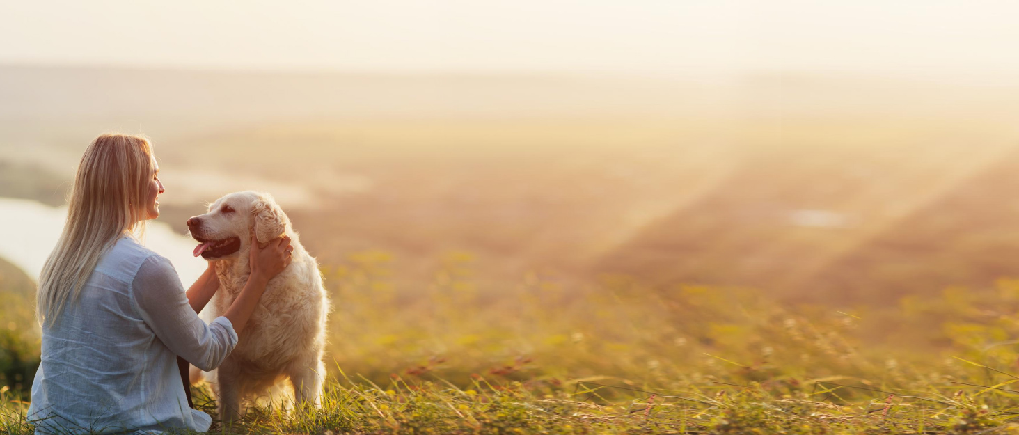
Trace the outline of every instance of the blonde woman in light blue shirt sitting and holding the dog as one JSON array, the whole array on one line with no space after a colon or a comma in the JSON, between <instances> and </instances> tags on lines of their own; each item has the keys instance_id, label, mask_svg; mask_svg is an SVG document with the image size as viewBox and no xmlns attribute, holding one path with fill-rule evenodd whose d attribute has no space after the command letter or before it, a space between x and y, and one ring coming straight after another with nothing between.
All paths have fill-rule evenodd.
<instances>
[{"instance_id":1,"label":"blonde woman in light blue shirt sitting and holding the dog","mask_svg":"<svg viewBox=\"0 0 1019 435\"><path fill-rule=\"evenodd\" d=\"M206 324L198 312L219 287L210 262L184 291L169 261L143 247L163 191L149 141L103 134L85 151L67 223L39 277L42 365L29 421L37 432L206 431L187 406L176 356L202 370L233 349L266 282L289 264L289 238L259 247L229 310Z\"/></svg>"}]
</instances>

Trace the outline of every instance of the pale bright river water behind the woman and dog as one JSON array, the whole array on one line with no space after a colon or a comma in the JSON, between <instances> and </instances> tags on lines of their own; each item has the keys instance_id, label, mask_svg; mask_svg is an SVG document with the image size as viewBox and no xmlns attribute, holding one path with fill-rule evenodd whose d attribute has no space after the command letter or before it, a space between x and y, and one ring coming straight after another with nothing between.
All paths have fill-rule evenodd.
<instances>
[{"instance_id":1,"label":"pale bright river water behind the woman and dog","mask_svg":"<svg viewBox=\"0 0 1019 435\"><path fill-rule=\"evenodd\" d=\"M66 218L66 207L0 198L0 228L6 229L0 237L0 258L38 280L43 263L60 237ZM149 222L144 241L150 250L173 263L184 288L195 282L206 268L205 260L192 255L198 242L174 232L165 223Z\"/></svg>"}]
</instances>

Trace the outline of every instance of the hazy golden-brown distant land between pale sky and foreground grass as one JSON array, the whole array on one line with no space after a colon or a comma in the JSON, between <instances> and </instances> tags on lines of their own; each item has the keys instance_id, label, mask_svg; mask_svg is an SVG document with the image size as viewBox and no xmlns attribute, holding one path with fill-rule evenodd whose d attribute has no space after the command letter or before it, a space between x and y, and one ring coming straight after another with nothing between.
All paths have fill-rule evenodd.
<instances>
[{"instance_id":1,"label":"hazy golden-brown distant land between pale sky and foreground grass","mask_svg":"<svg viewBox=\"0 0 1019 435\"><path fill-rule=\"evenodd\" d=\"M264 189L320 261L390 253L410 291L469 252L491 291L622 273L884 304L1019 276L1017 110L880 77L0 65L0 196L60 204L91 138L143 131L177 231Z\"/></svg>"}]
</instances>

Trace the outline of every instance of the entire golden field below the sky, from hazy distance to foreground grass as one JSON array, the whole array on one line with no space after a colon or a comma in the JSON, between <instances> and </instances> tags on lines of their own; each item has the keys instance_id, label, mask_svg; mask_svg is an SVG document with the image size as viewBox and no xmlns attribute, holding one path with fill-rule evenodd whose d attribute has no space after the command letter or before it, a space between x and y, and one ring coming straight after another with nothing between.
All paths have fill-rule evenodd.
<instances>
[{"instance_id":1,"label":"entire golden field below the sky, from hazy distance to foreground grass","mask_svg":"<svg viewBox=\"0 0 1019 435\"><path fill-rule=\"evenodd\" d=\"M141 131L160 221L183 232L205 202L265 189L320 261L323 409L256 406L215 432L1019 433L1019 90L0 78L0 197L60 205L90 138ZM0 260L15 435L32 432L33 286Z\"/></svg>"}]
</instances>

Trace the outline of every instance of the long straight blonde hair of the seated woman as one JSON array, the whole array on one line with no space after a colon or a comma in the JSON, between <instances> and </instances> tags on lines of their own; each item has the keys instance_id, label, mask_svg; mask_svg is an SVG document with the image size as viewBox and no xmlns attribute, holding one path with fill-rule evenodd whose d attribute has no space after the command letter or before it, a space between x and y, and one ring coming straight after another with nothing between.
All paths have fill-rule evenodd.
<instances>
[{"instance_id":1,"label":"long straight blonde hair of the seated woman","mask_svg":"<svg viewBox=\"0 0 1019 435\"><path fill-rule=\"evenodd\" d=\"M142 135L101 134L85 150L67 199L67 222L39 275L41 324L52 324L77 298L117 239L144 233L154 171L152 144Z\"/></svg>"}]
</instances>

